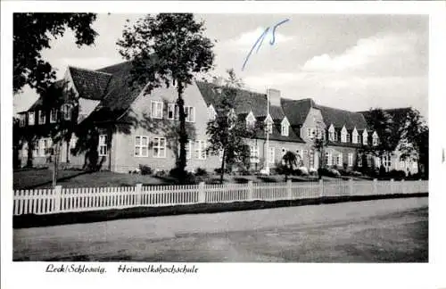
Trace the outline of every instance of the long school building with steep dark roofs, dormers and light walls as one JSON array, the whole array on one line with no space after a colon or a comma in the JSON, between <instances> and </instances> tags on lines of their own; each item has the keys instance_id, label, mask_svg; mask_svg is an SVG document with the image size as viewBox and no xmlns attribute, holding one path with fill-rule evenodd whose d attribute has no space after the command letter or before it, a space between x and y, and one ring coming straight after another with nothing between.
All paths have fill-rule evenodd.
<instances>
[{"instance_id":1,"label":"long school building with steep dark roofs, dormers and light walls","mask_svg":"<svg viewBox=\"0 0 446 289\"><path fill-rule=\"evenodd\" d=\"M129 62L101 70L69 67L62 80L74 90L75 100L63 103L60 110L48 111L39 98L28 111L19 113L18 129L26 135L26 131L75 118L78 132L62 142L58 155L59 163L67 167L86 166L86 143L91 143L93 138L101 169L128 172L139 165L162 170L174 168L179 152L177 91L175 87L160 87L145 94L144 87L129 85L130 70ZM186 145L186 169L220 167L219 155L206 153L206 127L215 117L219 88L202 81L186 87L186 129L190 139ZM318 169L321 157L325 165L345 169L379 166L370 158L366 163L358 158L361 147L376 145L379 140L376 132L368 130L364 113L318 105L310 98L292 100L296 95L287 96L290 99L282 97L276 89L269 89L266 94L237 89L238 119L244 120L247 126L262 123L267 128L246 140L250 145L252 169L262 169L267 161L274 168L287 151L296 153L300 165L309 169ZM95 132L93 136L91 132ZM315 149L318 138L327 140L322 156ZM32 142L32 153L28 153L28 145L23 145L20 151L22 166L31 155L35 166L54 161L49 150L53 145L51 138L41 136ZM388 165L387 161L384 165L398 168ZM412 165L411 173L415 167Z\"/></svg>"}]
</instances>

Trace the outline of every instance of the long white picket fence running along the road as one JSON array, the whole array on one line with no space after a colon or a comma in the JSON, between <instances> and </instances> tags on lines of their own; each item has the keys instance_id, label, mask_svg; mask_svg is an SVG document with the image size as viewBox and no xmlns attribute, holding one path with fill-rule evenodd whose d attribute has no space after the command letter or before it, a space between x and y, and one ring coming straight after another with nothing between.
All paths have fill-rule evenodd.
<instances>
[{"instance_id":1,"label":"long white picket fence running along the road","mask_svg":"<svg viewBox=\"0 0 446 289\"><path fill-rule=\"evenodd\" d=\"M216 202L317 199L321 197L427 193L427 181L339 181L82 187L14 191L13 214L52 214Z\"/></svg>"}]
</instances>

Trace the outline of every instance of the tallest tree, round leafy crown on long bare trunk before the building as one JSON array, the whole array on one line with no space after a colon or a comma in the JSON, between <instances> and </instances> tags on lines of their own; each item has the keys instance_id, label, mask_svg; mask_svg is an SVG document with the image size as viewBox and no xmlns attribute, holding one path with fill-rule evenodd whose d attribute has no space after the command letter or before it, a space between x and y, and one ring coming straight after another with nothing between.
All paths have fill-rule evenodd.
<instances>
[{"instance_id":1,"label":"tallest tree, round leafy crown on long bare trunk before the building","mask_svg":"<svg viewBox=\"0 0 446 289\"><path fill-rule=\"evenodd\" d=\"M194 76L211 70L214 62L213 42L204 36L204 22L195 21L191 13L147 15L126 27L118 41L120 54L133 64L131 82L145 87L145 95L153 88L176 86L178 92L177 169L184 178L186 168L186 113L184 91Z\"/></svg>"}]
</instances>

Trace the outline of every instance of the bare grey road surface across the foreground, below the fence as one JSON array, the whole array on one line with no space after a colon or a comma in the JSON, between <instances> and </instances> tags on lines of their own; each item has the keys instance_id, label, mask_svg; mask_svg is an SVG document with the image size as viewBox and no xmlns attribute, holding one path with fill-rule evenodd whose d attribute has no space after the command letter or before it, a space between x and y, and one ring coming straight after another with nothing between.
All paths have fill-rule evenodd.
<instances>
[{"instance_id":1,"label":"bare grey road surface across the foreground, below the fence","mask_svg":"<svg viewBox=\"0 0 446 289\"><path fill-rule=\"evenodd\" d=\"M427 262L427 198L13 231L13 260Z\"/></svg>"}]
</instances>

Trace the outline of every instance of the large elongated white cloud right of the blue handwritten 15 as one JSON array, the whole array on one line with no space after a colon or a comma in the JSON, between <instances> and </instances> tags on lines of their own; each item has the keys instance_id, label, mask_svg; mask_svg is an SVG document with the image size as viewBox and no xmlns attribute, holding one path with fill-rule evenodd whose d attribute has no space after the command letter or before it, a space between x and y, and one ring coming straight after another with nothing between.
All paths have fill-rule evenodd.
<instances>
[{"instance_id":1,"label":"large elongated white cloud right of the blue handwritten 15","mask_svg":"<svg viewBox=\"0 0 446 289\"><path fill-rule=\"evenodd\" d=\"M417 62L417 34L386 33L359 39L343 54L321 54L305 62L305 71L392 70L392 65L406 68ZM401 59L404 60L401 63Z\"/></svg>"}]
</instances>

